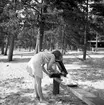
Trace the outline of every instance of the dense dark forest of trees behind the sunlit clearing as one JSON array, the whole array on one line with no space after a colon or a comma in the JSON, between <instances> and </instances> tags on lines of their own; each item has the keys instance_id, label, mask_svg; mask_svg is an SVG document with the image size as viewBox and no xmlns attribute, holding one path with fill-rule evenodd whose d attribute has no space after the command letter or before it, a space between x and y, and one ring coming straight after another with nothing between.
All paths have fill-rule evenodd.
<instances>
[{"instance_id":1,"label":"dense dark forest of trees behind the sunlit clearing","mask_svg":"<svg viewBox=\"0 0 104 105\"><path fill-rule=\"evenodd\" d=\"M14 48L81 49L85 60L89 41L103 37L103 23L103 0L1 0L1 54L8 51L12 61Z\"/></svg>"}]
</instances>

